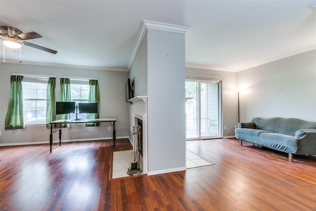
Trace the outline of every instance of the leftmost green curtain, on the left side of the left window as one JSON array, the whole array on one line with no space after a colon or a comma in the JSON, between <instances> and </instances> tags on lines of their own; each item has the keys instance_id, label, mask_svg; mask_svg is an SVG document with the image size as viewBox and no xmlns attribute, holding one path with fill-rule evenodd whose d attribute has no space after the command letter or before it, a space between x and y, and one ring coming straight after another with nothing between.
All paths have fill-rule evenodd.
<instances>
[{"instance_id":1,"label":"leftmost green curtain, on the left side of the left window","mask_svg":"<svg viewBox=\"0 0 316 211\"><path fill-rule=\"evenodd\" d=\"M24 129L23 76L11 76L9 107L5 116L5 129Z\"/></svg>"}]
</instances>

